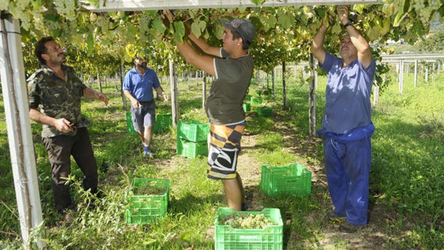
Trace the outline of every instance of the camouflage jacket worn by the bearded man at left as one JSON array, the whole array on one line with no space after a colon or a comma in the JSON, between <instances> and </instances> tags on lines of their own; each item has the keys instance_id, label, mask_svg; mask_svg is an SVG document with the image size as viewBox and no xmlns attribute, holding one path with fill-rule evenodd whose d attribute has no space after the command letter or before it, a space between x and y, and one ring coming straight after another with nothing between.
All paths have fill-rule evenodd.
<instances>
[{"instance_id":1,"label":"camouflage jacket worn by the bearded man at left","mask_svg":"<svg viewBox=\"0 0 444 250\"><path fill-rule=\"evenodd\" d=\"M85 84L77 77L73 68L62 65L65 79L60 78L49 67L43 65L32 74L27 82L30 85L29 108L55 119L65 118L75 125L82 123L80 98ZM62 133L53 126L43 124L42 137L75 135L77 130Z\"/></svg>"}]
</instances>

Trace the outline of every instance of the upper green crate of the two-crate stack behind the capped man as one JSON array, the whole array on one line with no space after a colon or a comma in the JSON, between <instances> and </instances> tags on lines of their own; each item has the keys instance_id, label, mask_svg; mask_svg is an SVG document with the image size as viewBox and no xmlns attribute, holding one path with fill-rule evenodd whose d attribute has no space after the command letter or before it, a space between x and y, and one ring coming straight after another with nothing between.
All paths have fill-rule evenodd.
<instances>
[{"instance_id":1,"label":"upper green crate of the two-crate stack behind the capped man","mask_svg":"<svg viewBox=\"0 0 444 250\"><path fill-rule=\"evenodd\" d=\"M206 141L209 131L208 123L196 120L180 120L177 124L177 137L189 141Z\"/></svg>"}]
</instances>

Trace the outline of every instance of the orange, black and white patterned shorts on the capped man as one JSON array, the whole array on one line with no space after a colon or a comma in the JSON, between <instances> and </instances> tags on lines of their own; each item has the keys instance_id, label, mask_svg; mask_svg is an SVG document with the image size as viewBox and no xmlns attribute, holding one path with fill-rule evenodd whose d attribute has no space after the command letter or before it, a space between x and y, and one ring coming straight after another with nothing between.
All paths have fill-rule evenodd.
<instances>
[{"instance_id":1,"label":"orange, black and white patterned shorts on the capped man","mask_svg":"<svg viewBox=\"0 0 444 250\"><path fill-rule=\"evenodd\" d=\"M245 121L234 125L210 124L207 174L210 179L235 179Z\"/></svg>"}]
</instances>

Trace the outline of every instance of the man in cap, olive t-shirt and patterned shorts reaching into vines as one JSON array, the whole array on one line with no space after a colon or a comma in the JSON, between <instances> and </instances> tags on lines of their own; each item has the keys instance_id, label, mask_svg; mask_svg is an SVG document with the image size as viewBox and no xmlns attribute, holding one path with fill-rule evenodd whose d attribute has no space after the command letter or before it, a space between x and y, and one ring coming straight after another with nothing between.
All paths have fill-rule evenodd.
<instances>
[{"instance_id":1,"label":"man in cap, olive t-shirt and patterned shorts reaching into vines","mask_svg":"<svg viewBox=\"0 0 444 250\"><path fill-rule=\"evenodd\" d=\"M167 16L173 20L171 12L167 11ZM210 46L192 32L188 35L207 55L198 54L186 40L176 45L187 63L215 77L205 105L210 122L207 175L222 181L228 205L240 211L246 210L247 206L236 168L246 125L242 104L254 68L247 49L256 32L248 19L221 20L221 23L226 28L222 47Z\"/></svg>"}]
</instances>

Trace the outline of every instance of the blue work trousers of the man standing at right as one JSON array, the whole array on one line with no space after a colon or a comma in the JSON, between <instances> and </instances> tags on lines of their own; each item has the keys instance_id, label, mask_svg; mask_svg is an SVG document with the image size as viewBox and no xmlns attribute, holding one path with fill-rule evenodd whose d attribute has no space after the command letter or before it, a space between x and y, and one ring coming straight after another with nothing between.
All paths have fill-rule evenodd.
<instances>
[{"instance_id":1,"label":"blue work trousers of the man standing at right","mask_svg":"<svg viewBox=\"0 0 444 250\"><path fill-rule=\"evenodd\" d=\"M367 224L370 137L340 143L325 134L323 140L325 171L334 212L347 216L350 224Z\"/></svg>"}]
</instances>

